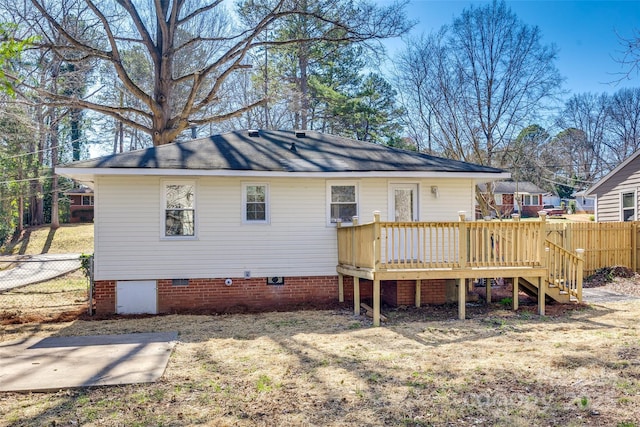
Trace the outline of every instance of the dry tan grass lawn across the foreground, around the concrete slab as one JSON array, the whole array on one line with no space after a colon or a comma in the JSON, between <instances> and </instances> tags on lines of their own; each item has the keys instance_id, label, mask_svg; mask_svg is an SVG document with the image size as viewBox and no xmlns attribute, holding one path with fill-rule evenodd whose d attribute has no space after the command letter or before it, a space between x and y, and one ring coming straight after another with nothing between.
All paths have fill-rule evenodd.
<instances>
[{"instance_id":1,"label":"dry tan grass lawn across the foreground, around the concrete slab","mask_svg":"<svg viewBox=\"0 0 640 427\"><path fill-rule=\"evenodd\" d=\"M1 426L635 426L640 302L5 325L27 336L178 331L155 384L0 394Z\"/></svg>"}]
</instances>

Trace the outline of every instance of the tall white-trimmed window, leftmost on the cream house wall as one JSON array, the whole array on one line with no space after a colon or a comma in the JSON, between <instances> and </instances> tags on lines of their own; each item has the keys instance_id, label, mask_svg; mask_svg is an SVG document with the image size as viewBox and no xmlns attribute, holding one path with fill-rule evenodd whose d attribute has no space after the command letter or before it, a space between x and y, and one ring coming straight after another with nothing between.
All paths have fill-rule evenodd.
<instances>
[{"instance_id":1,"label":"tall white-trimmed window, leftmost on the cream house wall","mask_svg":"<svg viewBox=\"0 0 640 427\"><path fill-rule=\"evenodd\" d=\"M195 237L195 182L165 182L162 188L163 236L166 238Z\"/></svg>"}]
</instances>

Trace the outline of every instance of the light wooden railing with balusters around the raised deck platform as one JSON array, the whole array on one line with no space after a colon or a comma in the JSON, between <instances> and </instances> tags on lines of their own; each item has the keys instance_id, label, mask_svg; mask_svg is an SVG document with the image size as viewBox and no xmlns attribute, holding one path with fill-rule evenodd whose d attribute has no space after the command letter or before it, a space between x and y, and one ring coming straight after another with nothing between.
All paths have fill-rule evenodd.
<instances>
[{"instance_id":1,"label":"light wooden railing with balusters around the raised deck platform","mask_svg":"<svg viewBox=\"0 0 640 427\"><path fill-rule=\"evenodd\" d=\"M338 262L356 268L535 267L544 264L544 221L381 222L338 227Z\"/></svg>"}]
</instances>

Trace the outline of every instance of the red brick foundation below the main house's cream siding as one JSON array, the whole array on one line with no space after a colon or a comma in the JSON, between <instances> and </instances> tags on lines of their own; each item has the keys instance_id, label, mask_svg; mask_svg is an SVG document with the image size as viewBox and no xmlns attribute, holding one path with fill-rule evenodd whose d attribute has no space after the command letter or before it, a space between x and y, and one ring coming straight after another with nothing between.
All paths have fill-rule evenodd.
<instances>
[{"instance_id":1,"label":"red brick foundation below the main house's cream siding","mask_svg":"<svg viewBox=\"0 0 640 427\"><path fill-rule=\"evenodd\" d=\"M158 285L158 312L212 311L219 313L295 309L322 306L338 301L337 276L286 277L284 285L267 285L266 278L233 278L231 286L225 279L189 279L188 284L175 286L172 280L161 279ZM445 304L447 294L454 294L452 281L444 279L421 282L422 304ZM380 283L381 299L390 306L415 304L415 280L388 280ZM360 299L372 302L373 282L360 279ZM116 281L94 283L95 312L116 312ZM344 277L344 301L353 305L353 277Z\"/></svg>"}]
</instances>

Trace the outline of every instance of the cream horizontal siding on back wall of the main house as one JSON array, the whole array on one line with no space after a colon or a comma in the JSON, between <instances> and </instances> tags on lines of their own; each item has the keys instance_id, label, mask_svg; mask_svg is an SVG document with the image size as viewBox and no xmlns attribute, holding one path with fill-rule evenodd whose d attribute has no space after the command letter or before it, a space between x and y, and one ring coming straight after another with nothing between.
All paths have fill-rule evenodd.
<instances>
[{"instance_id":1,"label":"cream horizontal siding on back wall of the main house","mask_svg":"<svg viewBox=\"0 0 640 427\"><path fill-rule=\"evenodd\" d=\"M161 177L98 177L95 279L145 280L336 274L336 231L327 225L327 182L320 178L199 177L196 238L162 238ZM360 222L388 218L389 186L419 184L420 221L456 221L473 212L471 179L371 179L356 182ZM242 183L269 185L270 223L242 223ZM438 186L438 195L431 191Z\"/></svg>"}]
</instances>

